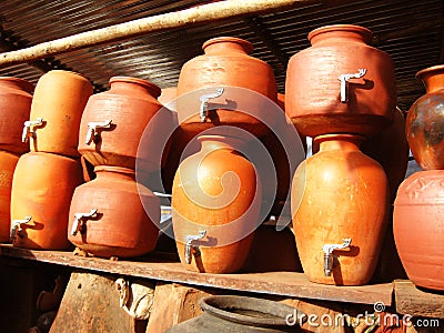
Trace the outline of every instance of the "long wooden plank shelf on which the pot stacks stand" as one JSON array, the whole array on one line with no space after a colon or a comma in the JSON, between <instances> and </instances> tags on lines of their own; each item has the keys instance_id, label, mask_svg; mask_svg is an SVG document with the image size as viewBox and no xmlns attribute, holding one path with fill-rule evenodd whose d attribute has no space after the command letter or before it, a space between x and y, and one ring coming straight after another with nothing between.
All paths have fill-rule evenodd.
<instances>
[{"instance_id":1,"label":"long wooden plank shelf on which the pot stacks stand","mask_svg":"<svg viewBox=\"0 0 444 333\"><path fill-rule=\"evenodd\" d=\"M72 252L18 249L2 244L1 255L58 265L139 276L159 281L176 282L189 285L218 287L233 291L264 293L315 299L334 302L374 304L383 302L392 305L393 283L362 286L335 286L307 281L303 273L266 272L238 274L209 274L189 272L180 262L160 260L111 261L100 258L83 258Z\"/></svg>"}]
</instances>

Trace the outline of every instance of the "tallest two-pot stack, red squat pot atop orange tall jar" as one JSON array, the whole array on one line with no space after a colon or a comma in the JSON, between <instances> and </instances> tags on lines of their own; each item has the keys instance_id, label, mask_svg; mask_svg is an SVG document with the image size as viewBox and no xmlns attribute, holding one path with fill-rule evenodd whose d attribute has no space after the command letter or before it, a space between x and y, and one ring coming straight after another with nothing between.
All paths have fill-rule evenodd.
<instances>
[{"instance_id":1,"label":"tallest two-pot stack, red squat pot atop orange tall jar","mask_svg":"<svg viewBox=\"0 0 444 333\"><path fill-rule=\"evenodd\" d=\"M389 222L390 185L360 145L394 121L394 64L363 27L322 27L291 58L285 87L289 118L319 150L293 178L297 252L313 282L366 284Z\"/></svg>"}]
</instances>

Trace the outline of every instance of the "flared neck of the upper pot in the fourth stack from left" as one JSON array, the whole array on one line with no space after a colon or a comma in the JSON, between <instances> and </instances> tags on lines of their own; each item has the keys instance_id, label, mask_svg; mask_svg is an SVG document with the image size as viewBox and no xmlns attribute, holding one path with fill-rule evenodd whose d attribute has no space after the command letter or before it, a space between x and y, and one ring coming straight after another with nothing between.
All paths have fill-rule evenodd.
<instances>
[{"instance_id":1,"label":"flared neck of the upper pot in the fourth stack from left","mask_svg":"<svg viewBox=\"0 0 444 333\"><path fill-rule=\"evenodd\" d=\"M250 54L253 52L253 46L244 39L234 37L218 37L204 42L202 50L208 56L233 53Z\"/></svg>"}]
</instances>

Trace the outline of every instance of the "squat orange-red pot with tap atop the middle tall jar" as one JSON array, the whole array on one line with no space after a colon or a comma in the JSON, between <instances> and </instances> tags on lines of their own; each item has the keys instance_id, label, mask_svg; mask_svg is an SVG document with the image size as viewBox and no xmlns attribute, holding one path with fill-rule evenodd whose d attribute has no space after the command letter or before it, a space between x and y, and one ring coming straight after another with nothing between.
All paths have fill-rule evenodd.
<instances>
[{"instance_id":1,"label":"squat orange-red pot with tap atop the middle tall jar","mask_svg":"<svg viewBox=\"0 0 444 333\"><path fill-rule=\"evenodd\" d=\"M193 135L220 124L239 127L256 137L264 134L268 128L262 122L274 123L268 104L276 102L278 94L272 68L250 57L253 46L243 39L213 38L202 49L204 54L188 61L180 72L180 125ZM205 94L206 107L202 101ZM202 107L208 114L201 119Z\"/></svg>"}]
</instances>

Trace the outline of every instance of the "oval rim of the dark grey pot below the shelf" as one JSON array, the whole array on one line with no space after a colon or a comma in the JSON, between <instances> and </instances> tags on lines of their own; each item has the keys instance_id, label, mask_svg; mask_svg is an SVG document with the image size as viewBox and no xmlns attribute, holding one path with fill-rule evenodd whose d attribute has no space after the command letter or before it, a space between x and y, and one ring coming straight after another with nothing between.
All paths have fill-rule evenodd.
<instances>
[{"instance_id":1,"label":"oval rim of the dark grey pot below the shelf","mask_svg":"<svg viewBox=\"0 0 444 333\"><path fill-rule=\"evenodd\" d=\"M201 299L199 305L210 315L254 326L287 326L289 315L294 316L294 314L297 316L297 320L295 320L296 324L306 320L306 315L296 307L265 299L239 295L214 295ZM230 312L230 310L233 309L255 311L269 315L271 314L275 317L258 317Z\"/></svg>"}]
</instances>

